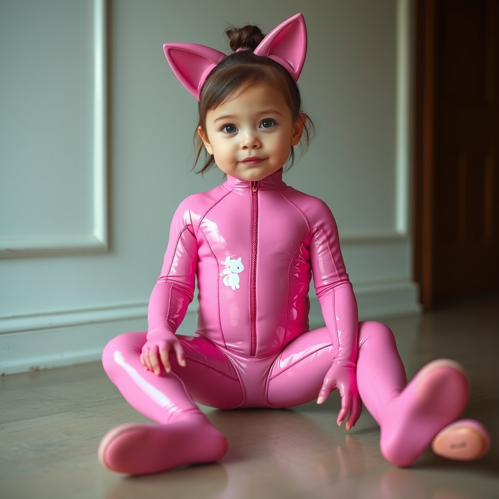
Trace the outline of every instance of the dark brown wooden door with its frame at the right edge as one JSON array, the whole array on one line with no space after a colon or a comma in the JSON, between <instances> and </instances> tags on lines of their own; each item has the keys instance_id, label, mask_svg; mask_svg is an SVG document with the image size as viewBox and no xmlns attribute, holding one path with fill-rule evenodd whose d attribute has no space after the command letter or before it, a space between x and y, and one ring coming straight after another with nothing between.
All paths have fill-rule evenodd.
<instances>
[{"instance_id":1,"label":"dark brown wooden door with its frame at the right edge","mask_svg":"<svg viewBox=\"0 0 499 499\"><path fill-rule=\"evenodd\" d=\"M499 0L418 3L415 275L426 308L499 289Z\"/></svg>"}]
</instances>

